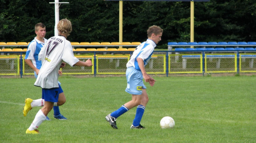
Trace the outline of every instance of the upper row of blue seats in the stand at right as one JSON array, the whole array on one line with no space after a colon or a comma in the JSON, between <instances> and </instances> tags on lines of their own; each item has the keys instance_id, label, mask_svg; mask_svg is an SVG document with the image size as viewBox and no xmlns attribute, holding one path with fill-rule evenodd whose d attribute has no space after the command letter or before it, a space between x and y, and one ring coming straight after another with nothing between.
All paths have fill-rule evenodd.
<instances>
[{"instance_id":1,"label":"upper row of blue seats in the stand at right","mask_svg":"<svg viewBox=\"0 0 256 143\"><path fill-rule=\"evenodd\" d=\"M168 45L256 45L256 42L168 42Z\"/></svg>"}]
</instances>

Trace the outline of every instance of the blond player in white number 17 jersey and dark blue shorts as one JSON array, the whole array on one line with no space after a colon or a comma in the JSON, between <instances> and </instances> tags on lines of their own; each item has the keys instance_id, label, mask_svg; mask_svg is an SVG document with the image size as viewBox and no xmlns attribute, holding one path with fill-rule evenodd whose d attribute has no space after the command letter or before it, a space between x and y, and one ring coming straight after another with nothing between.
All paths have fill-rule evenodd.
<instances>
[{"instance_id":1,"label":"blond player in white number 17 jersey and dark blue shorts","mask_svg":"<svg viewBox=\"0 0 256 143\"><path fill-rule=\"evenodd\" d=\"M59 100L66 101L64 94L59 94L63 91L58 84L58 70L62 65L62 60L71 66L92 66L90 59L85 62L79 61L73 54L71 43L66 40L72 31L71 22L68 19L62 19L57 24L57 29L59 35L49 38L38 55L38 59L42 60L42 67L34 85L42 88L45 105L36 114L26 134L39 134L38 127L55 103L61 105Z\"/></svg>"}]
</instances>

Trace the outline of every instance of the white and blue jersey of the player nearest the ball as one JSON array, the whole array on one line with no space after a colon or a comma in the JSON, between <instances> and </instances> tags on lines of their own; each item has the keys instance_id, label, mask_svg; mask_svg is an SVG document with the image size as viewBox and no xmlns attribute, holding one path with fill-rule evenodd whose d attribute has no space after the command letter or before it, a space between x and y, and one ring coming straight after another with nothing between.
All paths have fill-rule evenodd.
<instances>
[{"instance_id":1,"label":"white and blue jersey of the player nearest the ball","mask_svg":"<svg viewBox=\"0 0 256 143\"><path fill-rule=\"evenodd\" d=\"M144 61L145 67L149 62L155 47L156 43L150 39L147 39L146 42L141 43L133 52L133 55L130 57L130 60L126 64L126 67L129 68L133 66L136 70L140 70L137 58L141 58Z\"/></svg>"}]
</instances>

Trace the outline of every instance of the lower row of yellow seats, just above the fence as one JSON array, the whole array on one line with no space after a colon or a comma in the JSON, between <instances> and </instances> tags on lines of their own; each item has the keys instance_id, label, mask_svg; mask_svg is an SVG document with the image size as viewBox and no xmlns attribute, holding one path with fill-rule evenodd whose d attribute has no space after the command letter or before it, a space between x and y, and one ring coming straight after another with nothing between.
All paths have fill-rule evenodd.
<instances>
[{"instance_id":1,"label":"lower row of yellow seats, just above the fence","mask_svg":"<svg viewBox=\"0 0 256 143\"><path fill-rule=\"evenodd\" d=\"M73 52L81 52L81 51L109 51L109 52L113 52L113 51L134 51L135 48L76 48L73 49ZM5 48L5 49L0 49L0 52L26 52L27 48L21 49L21 48L14 48L14 49L10 49L10 48Z\"/></svg>"}]
</instances>

